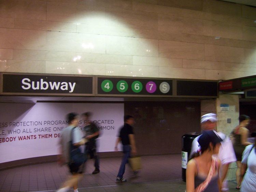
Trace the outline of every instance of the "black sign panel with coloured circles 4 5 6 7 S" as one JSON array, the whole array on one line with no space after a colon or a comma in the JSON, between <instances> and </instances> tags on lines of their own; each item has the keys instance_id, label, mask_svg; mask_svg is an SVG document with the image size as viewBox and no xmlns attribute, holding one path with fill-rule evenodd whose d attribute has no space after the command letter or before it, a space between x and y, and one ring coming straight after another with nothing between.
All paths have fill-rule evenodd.
<instances>
[{"instance_id":1,"label":"black sign panel with coloured circles 4 5 6 7 S","mask_svg":"<svg viewBox=\"0 0 256 192\"><path fill-rule=\"evenodd\" d=\"M172 95L172 80L98 77L98 94Z\"/></svg>"}]
</instances>

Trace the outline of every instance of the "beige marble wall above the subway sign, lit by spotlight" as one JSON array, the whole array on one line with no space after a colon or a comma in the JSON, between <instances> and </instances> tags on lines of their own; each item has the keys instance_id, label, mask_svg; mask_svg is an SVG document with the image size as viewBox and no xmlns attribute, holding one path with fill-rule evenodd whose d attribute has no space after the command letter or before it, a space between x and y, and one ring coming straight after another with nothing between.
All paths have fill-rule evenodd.
<instances>
[{"instance_id":1,"label":"beige marble wall above the subway sign, lit by spotlight","mask_svg":"<svg viewBox=\"0 0 256 192\"><path fill-rule=\"evenodd\" d=\"M255 20L256 8L218 0L0 0L0 71L255 75Z\"/></svg>"}]
</instances>

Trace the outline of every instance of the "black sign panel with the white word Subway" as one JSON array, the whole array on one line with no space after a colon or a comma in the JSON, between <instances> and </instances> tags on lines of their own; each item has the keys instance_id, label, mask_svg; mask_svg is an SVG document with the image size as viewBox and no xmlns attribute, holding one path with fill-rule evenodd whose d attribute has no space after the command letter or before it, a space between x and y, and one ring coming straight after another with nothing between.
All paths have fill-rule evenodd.
<instances>
[{"instance_id":1,"label":"black sign panel with the white word Subway","mask_svg":"<svg viewBox=\"0 0 256 192\"><path fill-rule=\"evenodd\" d=\"M3 74L3 93L93 94L93 77Z\"/></svg>"}]
</instances>

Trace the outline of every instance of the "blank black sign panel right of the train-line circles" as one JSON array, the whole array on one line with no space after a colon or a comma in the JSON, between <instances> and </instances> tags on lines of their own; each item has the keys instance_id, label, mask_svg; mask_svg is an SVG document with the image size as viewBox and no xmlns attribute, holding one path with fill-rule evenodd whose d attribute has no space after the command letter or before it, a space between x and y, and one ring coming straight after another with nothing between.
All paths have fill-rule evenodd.
<instances>
[{"instance_id":1,"label":"blank black sign panel right of the train-line circles","mask_svg":"<svg viewBox=\"0 0 256 192\"><path fill-rule=\"evenodd\" d=\"M218 83L208 81L177 80L177 96L218 96Z\"/></svg>"}]
</instances>

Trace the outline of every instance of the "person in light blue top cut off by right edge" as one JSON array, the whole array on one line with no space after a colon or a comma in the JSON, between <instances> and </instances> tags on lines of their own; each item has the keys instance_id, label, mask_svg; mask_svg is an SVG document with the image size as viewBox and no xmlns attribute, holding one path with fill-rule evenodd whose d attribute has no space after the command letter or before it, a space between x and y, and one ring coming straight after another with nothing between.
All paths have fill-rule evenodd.
<instances>
[{"instance_id":1,"label":"person in light blue top cut off by right edge","mask_svg":"<svg viewBox=\"0 0 256 192\"><path fill-rule=\"evenodd\" d=\"M245 147L242 156L241 166L241 192L256 191L256 132L252 133L255 137L254 144ZM246 172L246 174L245 174Z\"/></svg>"}]
</instances>

